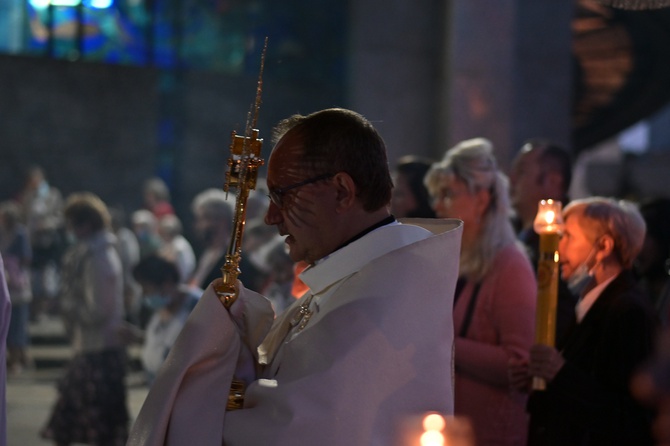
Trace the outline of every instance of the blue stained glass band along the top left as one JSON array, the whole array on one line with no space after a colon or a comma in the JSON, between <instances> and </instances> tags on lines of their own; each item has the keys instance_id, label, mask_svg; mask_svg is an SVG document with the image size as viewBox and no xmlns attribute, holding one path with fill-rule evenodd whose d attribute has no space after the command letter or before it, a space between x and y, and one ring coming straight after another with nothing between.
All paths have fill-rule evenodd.
<instances>
[{"instance_id":1,"label":"blue stained glass band along the top left","mask_svg":"<svg viewBox=\"0 0 670 446\"><path fill-rule=\"evenodd\" d=\"M246 75L268 37L272 75L339 84L346 15L335 0L0 0L0 52Z\"/></svg>"}]
</instances>

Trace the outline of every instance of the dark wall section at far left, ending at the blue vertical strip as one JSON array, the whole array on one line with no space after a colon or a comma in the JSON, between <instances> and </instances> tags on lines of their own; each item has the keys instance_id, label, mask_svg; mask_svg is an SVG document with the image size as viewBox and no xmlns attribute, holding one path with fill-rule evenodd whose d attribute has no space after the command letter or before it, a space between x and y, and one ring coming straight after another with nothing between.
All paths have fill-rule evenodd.
<instances>
[{"instance_id":1,"label":"dark wall section at far left, ending at the blue vertical strip","mask_svg":"<svg viewBox=\"0 0 670 446\"><path fill-rule=\"evenodd\" d=\"M134 204L157 149L155 80L132 67L0 57L0 196L39 164L65 194Z\"/></svg>"}]
</instances>

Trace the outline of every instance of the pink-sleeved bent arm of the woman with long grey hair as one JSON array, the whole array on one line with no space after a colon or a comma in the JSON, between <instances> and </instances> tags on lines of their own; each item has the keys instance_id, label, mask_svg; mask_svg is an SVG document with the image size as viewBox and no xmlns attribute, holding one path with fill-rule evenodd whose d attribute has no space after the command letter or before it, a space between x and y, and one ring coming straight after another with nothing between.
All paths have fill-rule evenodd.
<instances>
[{"instance_id":1,"label":"pink-sleeved bent arm of the woman with long grey hair","mask_svg":"<svg viewBox=\"0 0 670 446\"><path fill-rule=\"evenodd\" d=\"M504 259L496 262L484 279L490 285L488 290L495 293L491 296L490 317L498 341L491 344L458 337L455 362L464 373L490 384L507 386L510 358L527 358L533 342L537 284L528 260L520 253L499 257ZM482 311L483 305L484 302L478 302L475 313Z\"/></svg>"}]
</instances>

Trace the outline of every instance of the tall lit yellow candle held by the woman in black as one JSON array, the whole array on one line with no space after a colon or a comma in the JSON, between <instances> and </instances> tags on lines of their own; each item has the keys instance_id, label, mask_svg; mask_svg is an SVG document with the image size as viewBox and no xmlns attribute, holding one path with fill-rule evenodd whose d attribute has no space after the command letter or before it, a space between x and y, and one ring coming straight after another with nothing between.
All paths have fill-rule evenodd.
<instances>
[{"instance_id":1,"label":"tall lit yellow candle held by the woman in black","mask_svg":"<svg viewBox=\"0 0 670 446\"><path fill-rule=\"evenodd\" d=\"M541 200L533 229L540 235L537 262L535 343L554 346L558 299L558 240L563 230L561 202ZM533 377L533 390L544 390L544 379Z\"/></svg>"}]
</instances>

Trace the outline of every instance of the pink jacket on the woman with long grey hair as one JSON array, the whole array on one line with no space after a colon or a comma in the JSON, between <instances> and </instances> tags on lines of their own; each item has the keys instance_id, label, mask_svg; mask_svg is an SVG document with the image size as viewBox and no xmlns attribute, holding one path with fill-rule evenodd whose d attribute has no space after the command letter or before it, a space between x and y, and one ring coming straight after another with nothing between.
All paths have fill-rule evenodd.
<instances>
[{"instance_id":1,"label":"pink jacket on the woman with long grey hair","mask_svg":"<svg viewBox=\"0 0 670 446\"><path fill-rule=\"evenodd\" d=\"M460 333L474 284L454 308ZM526 395L508 385L509 358L527 357L535 333L537 283L529 260L516 245L496 256L477 295L465 337L456 339L456 415L473 422L477 445L525 445Z\"/></svg>"}]
</instances>

